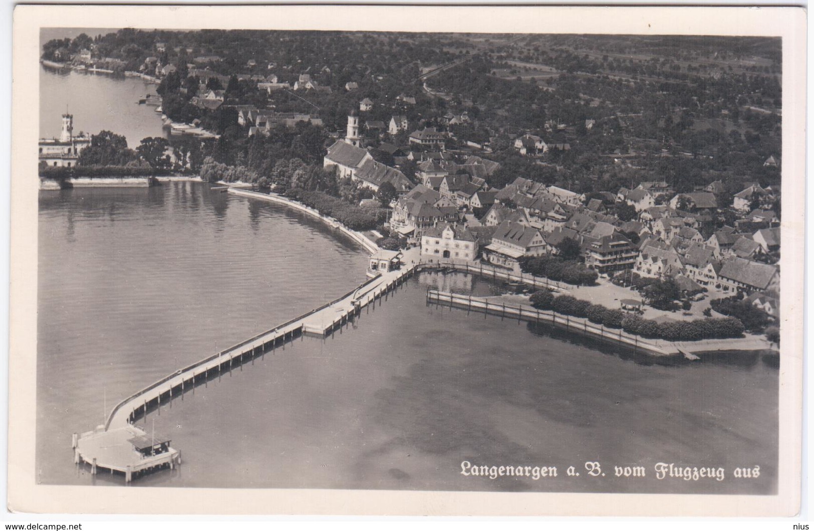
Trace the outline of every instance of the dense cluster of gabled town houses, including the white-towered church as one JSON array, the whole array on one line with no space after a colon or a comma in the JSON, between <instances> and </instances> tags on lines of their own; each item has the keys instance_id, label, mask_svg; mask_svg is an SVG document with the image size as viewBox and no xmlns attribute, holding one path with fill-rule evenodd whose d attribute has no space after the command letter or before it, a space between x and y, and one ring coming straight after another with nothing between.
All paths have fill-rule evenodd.
<instances>
[{"instance_id":1,"label":"dense cluster of gabled town houses, including the white-towered church","mask_svg":"<svg viewBox=\"0 0 814 531\"><path fill-rule=\"evenodd\" d=\"M435 143L434 131L428 146L438 150L392 146L396 158L418 161L420 182L413 185L360 146L358 124L359 114L352 111L347 136L330 146L325 167L374 191L391 184L398 197L391 204L390 229L420 246L423 259L482 260L519 273L524 258L556 256L562 241L571 239L580 247L580 260L602 278L631 272L673 279L690 296L743 293L777 316L780 220L772 204L779 190L746 183L731 203L719 204L720 182L677 194L665 181L643 181L600 198L522 176L492 189L486 179L500 165L449 154ZM412 132L410 142L425 138L425 132ZM522 141L518 145L524 149ZM635 208L636 219L619 220L614 214L619 205ZM723 211L736 216L733 226L716 227Z\"/></svg>"}]
</instances>

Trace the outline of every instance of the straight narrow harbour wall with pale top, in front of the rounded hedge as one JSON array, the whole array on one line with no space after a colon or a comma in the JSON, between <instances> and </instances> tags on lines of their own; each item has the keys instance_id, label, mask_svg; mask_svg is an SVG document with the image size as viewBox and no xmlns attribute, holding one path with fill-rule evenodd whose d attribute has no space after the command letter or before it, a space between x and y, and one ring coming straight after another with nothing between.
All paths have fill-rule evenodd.
<instances>
[{"instance_id":1,"label":"straight narrow harbour wall with pale top, in front of the rounded hedge","mask_svg":"<svg viewBox=\"0 0 814 531\"><path fill-rule=\"evenodd\" d=\"M465 307L468 310L479 310L484 313L515 317L536 323L549 323L565 326L568 330L584 333L586 336L601 338L607 341L632 346L634 350L646 350L655 355L670 355L670 351L653 342L642 340L640 337L624 333L622 329L608 329L602 324L596 325L582 317L572 317L558 314L550 310L538 310L534 307L507 305L505 302L489 302L488 298L472 297L471 295L453 294L438 289L427 289L427 301L448 302L450 306Z\"/></svg>"}]
</instances>

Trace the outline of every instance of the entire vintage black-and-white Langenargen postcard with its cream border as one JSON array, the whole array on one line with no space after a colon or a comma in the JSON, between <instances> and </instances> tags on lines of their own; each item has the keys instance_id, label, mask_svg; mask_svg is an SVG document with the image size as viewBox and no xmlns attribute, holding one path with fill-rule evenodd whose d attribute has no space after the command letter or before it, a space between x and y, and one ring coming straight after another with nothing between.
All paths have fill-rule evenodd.
<instances>
[{"instance_id":1,"label":"entire vintage black-and-white Langenargen postcard with its cream border","mask_svg":"<svg viewBox=\"0 0 814 531\"><path fill-rule=\"evenodd\" d=\"M784 37L109 20L15 107L27 489L794 490Z\"/></svg>"}]
</instances>

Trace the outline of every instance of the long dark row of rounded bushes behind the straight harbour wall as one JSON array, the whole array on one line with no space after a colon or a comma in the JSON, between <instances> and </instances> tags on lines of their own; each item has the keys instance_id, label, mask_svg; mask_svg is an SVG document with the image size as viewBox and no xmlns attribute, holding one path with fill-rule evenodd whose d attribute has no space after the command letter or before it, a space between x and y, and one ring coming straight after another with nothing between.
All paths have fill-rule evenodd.
<instances>
[{"instance_id":1,"label":"long dark row of rounded bushes behind the straight harbour wall","mask_svg":"<svg viewBox=\"0 0 814 531\"><path fill-rule=\"evenodd\" d=\"M591 304L571 295L554 297L549 291L536 291L529 298L538 310L554 310L565 316L587 317L592 323L609 329L624 329L627 333L650 339L667 341L698 341L700 339L727 339L742 337L744 326L734 317L723 319L696 319L691 321L666 321L643 319L619 309L611 310L601 304Z\"/></svg>"}]
</instances>

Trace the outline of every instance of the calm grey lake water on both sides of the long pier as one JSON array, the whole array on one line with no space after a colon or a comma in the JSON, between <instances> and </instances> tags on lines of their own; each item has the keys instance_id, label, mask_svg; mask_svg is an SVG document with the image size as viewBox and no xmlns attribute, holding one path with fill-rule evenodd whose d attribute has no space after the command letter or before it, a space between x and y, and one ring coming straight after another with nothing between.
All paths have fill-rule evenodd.
<instances>
[{"instance_id":1,"label":"calm grey lake water on both sides of the long pier","mask_svg":"<svg viewBox=\"0 0 814 531\"><path fill-rule=\"evenodd\" d=\"M341 233L199 183L42 191L38 231L37 476L46 484L123 485L74 465L71 433L161 376L365 280L366 253ZM771 357L658 364L543 326L428 306L428 285L499 289L422 274L341 333L296 341L188 392L140 423L173 439L182 466L133 485L776 491ZM462 461L554 466L558 476L466 477ZM606 476L589 477L586 461ZM726 477L659 480L659 462L722 467ZM580 477L567 476L571 465ZM633 465L646 477L615 477L615 466ZM733 477L755 465L758 478Z\"/></svg>"}]
</instances>

